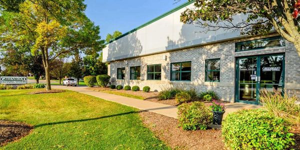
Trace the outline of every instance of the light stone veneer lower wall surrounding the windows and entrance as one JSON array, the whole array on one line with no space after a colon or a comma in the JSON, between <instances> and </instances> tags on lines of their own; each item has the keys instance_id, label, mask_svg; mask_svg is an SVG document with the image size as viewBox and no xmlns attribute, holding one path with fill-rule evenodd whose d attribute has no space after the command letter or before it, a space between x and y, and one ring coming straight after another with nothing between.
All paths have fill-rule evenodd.
<instances>
[{"instance_id":1,"label":"light stone veneer lower wall surrounding the windows and entrance","mask_svg":"<svg viewBox=\"0 0 300 150\"><path fill-rule=\"evenodd\" d=\"M257 38L247 38L252 40ZM243 39L244 40L244 39ZM160 91L170 86L195 88L197 91L214 90L226 101L234 102L235 58L239 56L285 53L284 87L300 96L300 57L292 43L285 41L285 46L257 50L235 52L235 42L231 40L212 43L192 48L167 51L126 60L111 61L108 65L108 75L111 84L150 86L151 91ZM163 59L166 55L166 60ZM205 60L220 58L220 81L205 82ZM191 81L170 81L170 63L191 61ZM127 64L125 64L127 62ZM161 64L161 80L147 80L147 65ZM140 66L140 80L129 79L130 66ZM117 68L125 67L125 79L116 79Z\"/></svg>"}]
</instances>

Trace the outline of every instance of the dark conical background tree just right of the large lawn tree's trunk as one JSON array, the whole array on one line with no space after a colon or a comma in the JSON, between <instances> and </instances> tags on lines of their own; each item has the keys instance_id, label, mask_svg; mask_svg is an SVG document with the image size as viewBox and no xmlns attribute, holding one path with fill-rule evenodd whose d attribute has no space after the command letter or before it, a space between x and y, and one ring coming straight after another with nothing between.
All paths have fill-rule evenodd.
<instances>
[{"instance_id":1,"label":"dark conical background tree just right of the large lawn tree's trunk","mask_svg":"<svg viewBox=\"0 0 300 150\"><path fill-rule=\"evenodd\" d=\"M79 53L74 55L68 72L69 76L75 77L79 84L79 79L83 77L83 61Z\"/></svg>"}]
</instances>

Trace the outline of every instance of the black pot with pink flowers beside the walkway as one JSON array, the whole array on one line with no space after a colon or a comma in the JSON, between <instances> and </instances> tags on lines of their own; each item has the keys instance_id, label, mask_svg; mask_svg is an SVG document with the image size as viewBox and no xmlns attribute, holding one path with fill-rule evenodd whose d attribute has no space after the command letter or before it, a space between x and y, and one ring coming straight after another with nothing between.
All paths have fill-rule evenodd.
<instances>
[{"instance_id":1,"label":"black pot with pink flowers beside the walkway","mask_svg":"<svg viewBox=\"0 0 300 150\"><path fill-rule=\"evenodd\" d=\"M215 100L209 106L213 113L212 124L222 124L223 114L225 112L225 105Z\"/></svg>"}]
</instances>

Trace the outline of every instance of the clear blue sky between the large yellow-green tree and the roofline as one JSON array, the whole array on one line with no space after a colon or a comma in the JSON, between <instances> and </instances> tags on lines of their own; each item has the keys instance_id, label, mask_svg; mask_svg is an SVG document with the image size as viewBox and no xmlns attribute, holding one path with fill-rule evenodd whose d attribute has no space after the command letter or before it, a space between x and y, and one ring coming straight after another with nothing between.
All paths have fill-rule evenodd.
<instances>
[{"instance_id":1,"label":"clear blue sky between the large yellow-green tree and the roofline","mask_svg":"<svg viewBox=\"0 0 300 150\"><path fill-rule=\"evenodd\" d=\"M85 0L85 13L100 26L101 39L119 30L125 33L186 2L180 0Z\"/></svg>"}]
</instances>

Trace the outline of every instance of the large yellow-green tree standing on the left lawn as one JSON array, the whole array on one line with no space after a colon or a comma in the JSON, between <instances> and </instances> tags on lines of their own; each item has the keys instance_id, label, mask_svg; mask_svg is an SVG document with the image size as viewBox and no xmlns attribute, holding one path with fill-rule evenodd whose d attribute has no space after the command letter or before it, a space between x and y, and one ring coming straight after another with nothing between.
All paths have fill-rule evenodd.
<instances>
[{"instance_id":1,"label":"large yellow-green tree standing on the left lawn","mask_svg":"<svg viewBox=\"0 0 300 150\"><path fill-rule=\"evenodd\" d=\"M30 43L31 53L42 56L46 88L50 86L50 65L57 57L73 51L99 51L103 40L99 27L84 14L83 0L24 0L17 11L0 12L0 48L8 43Z\"/></svg>"}]
</instances>

